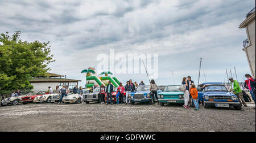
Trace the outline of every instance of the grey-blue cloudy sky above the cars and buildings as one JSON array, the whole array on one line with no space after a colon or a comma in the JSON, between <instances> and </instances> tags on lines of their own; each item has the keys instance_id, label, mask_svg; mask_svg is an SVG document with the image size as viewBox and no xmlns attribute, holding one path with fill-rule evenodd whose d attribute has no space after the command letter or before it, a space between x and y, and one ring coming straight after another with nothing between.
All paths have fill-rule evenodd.
<instances>
[{"instance_id":1,"label":"grey-blue cloudy sky above the cars and buildings","mask_svg":"<svg viewBox=\"0 0 256 143\"><path fill-rule=\"evenodd\" d=\"M97 67L98 54L109 58L109 49L115 54L158 54L158 84L180 84L188 75L197 83L200 58L200 83L226 81L225 69L233 74L234 66L239 81L250 73L242 51L246 31L238 26L255 7L252 0L0 3L0 32L21 31L22 40L50 41L56 59L50 72L80 79L80 85L85 83L80 72ZM114 76L148 83L144 73Z\"/></svg>"}]
</instances>

